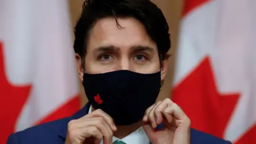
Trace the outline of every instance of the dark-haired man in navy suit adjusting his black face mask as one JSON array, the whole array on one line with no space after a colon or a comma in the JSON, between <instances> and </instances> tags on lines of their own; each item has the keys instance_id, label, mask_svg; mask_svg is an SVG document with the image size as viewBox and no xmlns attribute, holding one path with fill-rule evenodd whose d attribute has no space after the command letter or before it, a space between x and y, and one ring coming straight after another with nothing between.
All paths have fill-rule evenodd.
<instances>
[{"instance_id":1,"label":"dark-haired man in navy suit adjusting his black face mask","mask_svg":"<svg viewBox=\"0 0 256 144\"><path fill-rule=\"evenodd\" d=\"M155 102L169 36L162 11L148 0L86 1L74 50L89 103L73 116L14 133L7 143L230 143L190 129L170 99Z\"/></svg>"}]
</instances>

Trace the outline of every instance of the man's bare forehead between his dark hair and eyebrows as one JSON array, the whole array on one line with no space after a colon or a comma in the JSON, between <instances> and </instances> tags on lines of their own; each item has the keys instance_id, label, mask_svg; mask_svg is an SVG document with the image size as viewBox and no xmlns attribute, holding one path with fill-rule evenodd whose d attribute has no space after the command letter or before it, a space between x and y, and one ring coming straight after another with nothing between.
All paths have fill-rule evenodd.
<instances>
[{"instance_id":1,"label":"man's bare forehead between his dark hair and eyebrows","mask_svg":"<svg viewBox=\"0 0 256 144\"><path fill-rule=\"evenodd\" d=\"M133 46L147 46L157 50L155 42L149 37L142 23L134 18L103 18L91 30L87 42L87 52L100 46L115 46L121 50Z\"/></svg>"}]
</instances>

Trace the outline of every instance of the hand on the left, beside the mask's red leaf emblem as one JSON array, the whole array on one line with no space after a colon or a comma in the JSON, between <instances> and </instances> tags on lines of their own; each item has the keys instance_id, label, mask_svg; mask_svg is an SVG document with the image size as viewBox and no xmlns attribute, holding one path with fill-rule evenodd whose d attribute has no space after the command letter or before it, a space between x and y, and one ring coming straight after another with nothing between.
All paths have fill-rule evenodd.
<instances>
[{"instance_id":1,"label":"hand on the left, beside the mask's red leaf emblem","mask_svg":"<svg viewBox=\"0 0 256 144\"><path fill-rule=\"evenodd\" d=\"M113 119L101 109L68 123L65 144L97 143L103 139L112 144L113 131L116 131Z\"/></svg>"}]
</instances>

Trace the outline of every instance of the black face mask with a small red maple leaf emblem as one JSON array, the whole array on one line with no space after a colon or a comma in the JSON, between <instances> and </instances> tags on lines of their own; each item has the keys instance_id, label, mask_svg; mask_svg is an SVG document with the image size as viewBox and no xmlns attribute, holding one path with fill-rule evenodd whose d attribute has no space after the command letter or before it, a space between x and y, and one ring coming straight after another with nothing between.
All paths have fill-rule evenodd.
<instances>
[{"instance_id":1,"label":"black face mask with a small red maple leaf emblem","mask_svg":"<svg viewBox=\"0 0 256 144\"><path fill-rule=\"evenodd\" d=\"M84 73L84 89L94 109L109 114L116 125L139 122L153 105L161 88L161 71L139 74L118 70L103 74Z\"/></svg>"}]
</instances>

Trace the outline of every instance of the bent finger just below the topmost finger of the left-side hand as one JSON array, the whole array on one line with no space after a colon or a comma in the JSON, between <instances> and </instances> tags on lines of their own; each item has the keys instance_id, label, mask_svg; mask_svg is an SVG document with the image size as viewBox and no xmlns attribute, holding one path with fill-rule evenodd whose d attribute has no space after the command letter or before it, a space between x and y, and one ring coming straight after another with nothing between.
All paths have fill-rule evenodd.
<instances>
[{"instance_id":1,"label":"bent finger just below the topmost finger of the left-side hand","mask_svg":"<svg viewBox=\"0 0 256 144\"><path fill-rule=\"evenodd\" d=\"M84 127L95 126L103 135L103 142L112 142L113 131L110 125L102 117L93 117L88 119L81 119L82 123L77 124L80 129Z\"/></svg>"}]
</instances>

